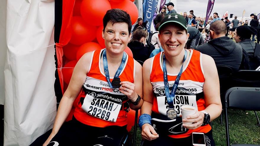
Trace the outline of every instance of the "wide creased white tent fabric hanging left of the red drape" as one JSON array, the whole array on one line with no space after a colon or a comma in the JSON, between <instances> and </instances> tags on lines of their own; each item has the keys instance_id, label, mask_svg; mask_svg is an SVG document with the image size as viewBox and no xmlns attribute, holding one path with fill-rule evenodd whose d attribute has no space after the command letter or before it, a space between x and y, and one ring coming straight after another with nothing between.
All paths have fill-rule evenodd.
<instances>
[{"instance_id":1,"label":"wide creased white tent fabric hanging left of the red drape","mask_svg":"<svg viewBox=\"0 0 260 146\"><path fill-rule=\"evenodd\" d=\"M51 129L54 0L7 0L4 145L28 146Z\"/></svg>"}]
</instances>

